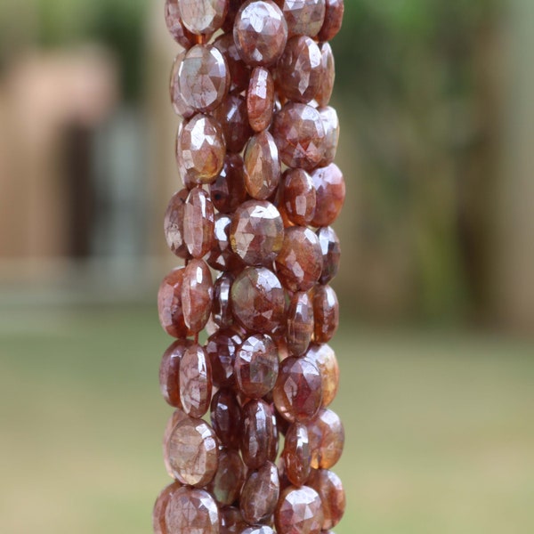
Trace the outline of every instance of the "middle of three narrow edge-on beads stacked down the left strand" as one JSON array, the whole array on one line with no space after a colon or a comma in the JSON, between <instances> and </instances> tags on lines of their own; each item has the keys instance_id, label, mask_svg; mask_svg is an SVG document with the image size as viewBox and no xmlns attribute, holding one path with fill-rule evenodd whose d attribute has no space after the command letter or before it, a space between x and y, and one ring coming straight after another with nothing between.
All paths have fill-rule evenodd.
<instances>
[{"instance_id":1,"label":"middle of three narrow edge-on beads stacked down the left strand","mask_svg":"<svg viewBox=\"0 0 534 534\"><path fill-rule=\"evenodd\" d=\"M209 267L202 260L191 260L183 274L183 320L193 332L206 326L214 298L214 285Z\"/></svg>"}]
</instances>

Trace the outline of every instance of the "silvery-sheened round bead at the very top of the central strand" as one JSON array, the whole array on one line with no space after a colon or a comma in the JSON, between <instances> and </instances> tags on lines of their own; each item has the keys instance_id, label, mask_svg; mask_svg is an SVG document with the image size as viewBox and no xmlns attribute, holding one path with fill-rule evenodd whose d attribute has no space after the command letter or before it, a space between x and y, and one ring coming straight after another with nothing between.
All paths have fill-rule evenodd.
<instances>
[{"instance_id":1,"label":"silvery-sheened round bead at the very top of the central strand","mask_svg":"<svg viewBox=\"0 0 534 534\"><path fill-rule=\"evenodd\" d=\"M279 60L287 43L287 23L271 0L247 2L233 28L239 55L252 67L268 67Z\"/></svg>"}]
</instances>

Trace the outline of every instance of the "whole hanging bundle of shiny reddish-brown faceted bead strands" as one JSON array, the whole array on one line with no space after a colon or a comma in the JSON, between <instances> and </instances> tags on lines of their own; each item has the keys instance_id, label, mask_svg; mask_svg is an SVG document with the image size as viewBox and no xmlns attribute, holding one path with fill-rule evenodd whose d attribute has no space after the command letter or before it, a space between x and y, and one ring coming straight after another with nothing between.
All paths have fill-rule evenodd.
<instances>
[{"instance_id":1,"label":"whole hanging bundle of shiny reddish-brown faceted bead strands","mask_svg":"<svg viewBox=\"0 0 534 534\"><path fill-rule=\"evenodd\" d=\"M166 0L183 48L171 74L183 188L165 235L184 264L158 293L176 339L159 374L174 481L154 507L157 534L319 534L343 515L329 469L344 431L328 409L339 379L331 224L344 203L328 40L343 9Z\"/></svg>"}]
</instances>

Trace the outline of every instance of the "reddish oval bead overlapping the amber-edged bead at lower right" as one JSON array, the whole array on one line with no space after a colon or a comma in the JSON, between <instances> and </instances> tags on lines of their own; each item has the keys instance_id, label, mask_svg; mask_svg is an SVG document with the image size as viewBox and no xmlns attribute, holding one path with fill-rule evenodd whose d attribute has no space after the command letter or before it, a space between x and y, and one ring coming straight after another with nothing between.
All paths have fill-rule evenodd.
<instances>
[{"instance_id":1,"label":"reddish oval bead overlapping the amber-edged bead at lower right","mask_svg":"<svg viewBox=\"0 0 534 534\"><path fill-rule=\"evenodd\" d=\"M273 392L279 414L291 423L312 419L320 409L321 384L319 369L310 360L283 360Z\"/></svg>"}]
</instances>

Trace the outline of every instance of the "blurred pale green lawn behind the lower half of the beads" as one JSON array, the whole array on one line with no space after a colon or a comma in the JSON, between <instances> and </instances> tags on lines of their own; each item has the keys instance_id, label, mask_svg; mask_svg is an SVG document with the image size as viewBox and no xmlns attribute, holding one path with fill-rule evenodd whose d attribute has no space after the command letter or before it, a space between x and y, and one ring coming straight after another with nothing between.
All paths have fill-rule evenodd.
<instances>
[{"instance_id":1,"label":"blurred pale green lawn behind the lower half of the beads","mask_svg":"<svg viewBox=\"0 0 534 534\"><path fill-rule=\"evenodd\" d=\"M150 532L171 410L152 308L0 310L0 531ZM534 350L345 323L336 534L534 532Z\"/></svg>"}]
</instances>

